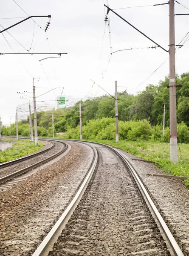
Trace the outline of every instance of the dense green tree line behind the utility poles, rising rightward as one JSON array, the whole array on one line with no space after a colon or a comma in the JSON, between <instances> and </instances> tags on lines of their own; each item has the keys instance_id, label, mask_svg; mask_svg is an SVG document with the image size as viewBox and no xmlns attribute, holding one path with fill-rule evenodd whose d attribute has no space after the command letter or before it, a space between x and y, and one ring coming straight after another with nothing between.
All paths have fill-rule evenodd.
<instances>
[{"instance_id":1,"label":"dense green tree line behind the utility poles, rising rightward","mask_svg":"<svg viewBox=\"0 0 189 256\"><path fill-rule=\"evenodd\" d=\"M177 76L177 123L189 126L189 73ZM136 96L123 91L118 93L119 122L138 122L147 120L151 128L162 127L164 104L166 105L165 120L169 127L169 77L160 81L158 85L149 84L145 90L138 92ZM39 136L52 136L52 111L37 112L37 124ZM115 99L109 95L87 99L82 102L82 125L88 125L91 120L115 119ZM32 114L32 122L34 116ZM106 122L106 121L104 121ZM54 110L55 132L69 131L74 133L79 125L79 102L73 107ZM95 123L93 123L95 125ZM98 126L98 125L97 125ZM162 128L161 128L162 130ZM2 135L10 135L10 127L1 128ZM18 124L19 135L29 136L29 116ZM16 135L16 125L11 127L12 135ZM186 136L186 134L185 134ZM187 137L187 136L186 136ZM187 141L186 141L187 142Z\"/></svg>"}]
</instances>

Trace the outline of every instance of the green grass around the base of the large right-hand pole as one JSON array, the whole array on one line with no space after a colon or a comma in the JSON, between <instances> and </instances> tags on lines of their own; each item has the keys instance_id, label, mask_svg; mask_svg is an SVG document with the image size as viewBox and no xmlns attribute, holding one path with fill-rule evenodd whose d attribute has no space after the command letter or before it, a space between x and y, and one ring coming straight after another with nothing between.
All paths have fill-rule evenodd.
<instances>
[{"instance_id":1,"label":"green grass around the base of the large right-hand pole","mask_svg":"<svg viewBox=\"0 0 189 256\"><path fill-rule=\"evenodd\" d=\"M119 141L118 143L112 140L93 140L95 142L104 143L113 147L121 148L125 152L141 157L144 160L155 161L164 172L175 175L189 177L189 144L179 144L178 148L178 163L170 161L170 146L169 143L152 142L152 141ZM189 186L189 179L185 181L186 186Z\"/></svg>"}]
</instances>

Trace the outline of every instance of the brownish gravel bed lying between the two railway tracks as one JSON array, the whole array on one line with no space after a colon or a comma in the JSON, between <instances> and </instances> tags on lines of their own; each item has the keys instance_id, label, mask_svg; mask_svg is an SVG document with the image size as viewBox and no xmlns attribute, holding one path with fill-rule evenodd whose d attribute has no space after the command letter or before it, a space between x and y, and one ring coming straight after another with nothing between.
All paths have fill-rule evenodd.
<instances>
[{"instance_id":1,"label":"brownish gravel bed lying between the two railway tracks","mask_svg":"<svg viewBox=\"0 0 189 256\"><path fill-rule=\"evenodd\" d=\"M86 145L71 143L65 157L0 192L0 255L27 256L42 241L85 177L93 159Z\"/></svg>"}]
</instances>

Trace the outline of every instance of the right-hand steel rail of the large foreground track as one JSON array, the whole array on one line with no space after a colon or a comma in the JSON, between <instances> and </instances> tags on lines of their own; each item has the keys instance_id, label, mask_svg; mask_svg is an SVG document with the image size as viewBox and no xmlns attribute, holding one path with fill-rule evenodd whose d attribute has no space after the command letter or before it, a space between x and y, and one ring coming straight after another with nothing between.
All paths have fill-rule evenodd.
<instances>
[{"instance_id":1,"label":"right-hand steel rail of the large foreground track","mask_svg":"<svg viewBox=\"0 0 189 256\"><path fill-rule=\"evenodd\" d=\"M67 141L69 141L69 140L67 140ZM71 141L79 142L79 140L71 140ZM135 182L138 185L139 189L141 190L141 193L142 193L145 201L148 202L147 206L150 209L150 212L152 211L155 214L155 217L157 218L159 225L163 229L164 235L166 236L170 247L172 248L173 252L175 253L175 256L184 256L181 248L179 247L179 245L176 242L174 236L172 235L171 231L169 230L169 227L167 227L167 225L166 225L164 219L162 218L160 212L158 211L157 207L155 206L152 199L150 198L150 195L147 192L146 188L144 187L140 177L138 176L137 172L135 171L133 165L127 160L127 158L123 154L118 152L118 150L116 148L113 148L109 145L102 144L102 143L96 143L96 142L92 142L92 141L86 141L86 140L82 140L80 142L81 143L82 142L83 143L87 142L87 143L94 143L94 144L98 144L98 145L103 145L103 146L109 148L110 150L112 150L113 152L115 152L123 160L123 162L129 168L131 174L133 175L133 177L135 179ZM149 207L149 205L150 205L150 207Z\"/></svg>"}]
</instances>

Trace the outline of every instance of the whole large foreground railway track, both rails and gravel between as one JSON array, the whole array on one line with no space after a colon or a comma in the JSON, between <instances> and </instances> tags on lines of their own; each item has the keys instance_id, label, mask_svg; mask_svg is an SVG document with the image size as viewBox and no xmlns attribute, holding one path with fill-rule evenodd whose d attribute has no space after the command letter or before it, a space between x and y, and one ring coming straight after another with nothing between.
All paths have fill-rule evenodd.
<instances>
[{"instance_id":1,"label":"whole large foreground railway track, both rails and gravel between","mask_svg":"<svg viewBox=\"0 0 189 256\"><path fill-rule=\"evenodd\" d=\"M81 143L94 147L92 169L33 256L183 256L124 155Z\"/></svg>"}]
</instances>

